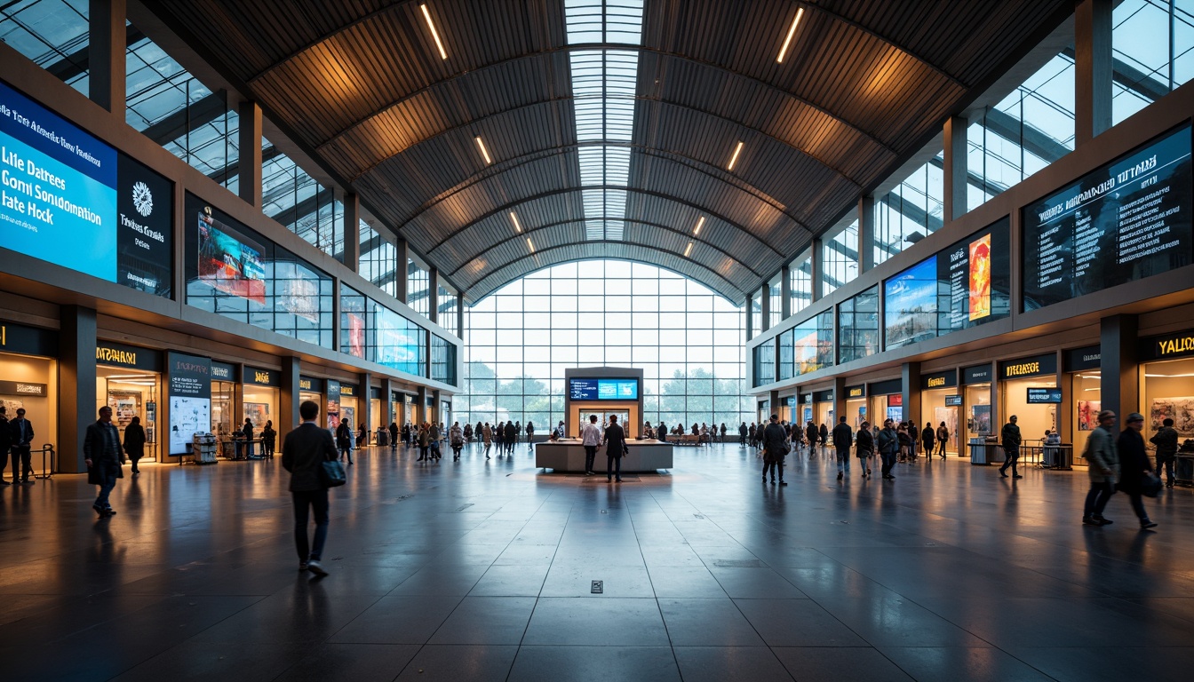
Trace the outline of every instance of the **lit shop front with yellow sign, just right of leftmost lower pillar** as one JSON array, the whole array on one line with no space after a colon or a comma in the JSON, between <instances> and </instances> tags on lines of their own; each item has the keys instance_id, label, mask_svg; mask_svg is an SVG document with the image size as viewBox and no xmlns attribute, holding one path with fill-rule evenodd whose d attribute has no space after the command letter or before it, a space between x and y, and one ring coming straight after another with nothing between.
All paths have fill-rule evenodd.
<instances>
[{"instance_id":1,"label":"lit shop front with yellow sign, just right of leftmost lower pillar","mask_svg":"<svg viewBox=\"0 0 1194 682\"><path fill-rule=\"evenodd\" d=\"M96 410L104 405L112 408L112 423L121 432L121 442L124 429L137 418L146 431L141 461L161 461L158 424L161 362L161 351L105 340L96 343ZM12 418L12 408L8 417Z\"/></svg>"}]
</instances>

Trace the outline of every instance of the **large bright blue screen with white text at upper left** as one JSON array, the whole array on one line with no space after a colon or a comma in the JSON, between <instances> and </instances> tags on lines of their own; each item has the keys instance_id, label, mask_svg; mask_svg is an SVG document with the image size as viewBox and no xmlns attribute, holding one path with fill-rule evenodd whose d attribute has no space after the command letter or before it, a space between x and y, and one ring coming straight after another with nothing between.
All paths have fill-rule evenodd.
<instances>
[{"instance_id":1,"label":"large bright blue screen with white text at upper left","mask_svg":"<svg viewBox=\"0 0 1194 682\"><path fill-rule=\"evenodd\" d=\"M159 296L173 184L0 82L0 246Z\"/></svg>"}]
</instances>

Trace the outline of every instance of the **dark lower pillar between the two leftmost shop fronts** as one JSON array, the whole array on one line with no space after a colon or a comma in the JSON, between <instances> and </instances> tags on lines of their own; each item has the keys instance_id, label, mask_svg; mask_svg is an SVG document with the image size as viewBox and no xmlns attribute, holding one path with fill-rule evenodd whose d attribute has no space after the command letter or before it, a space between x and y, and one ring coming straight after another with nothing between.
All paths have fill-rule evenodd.
<instances>
[{"instance_id":1,"label":"dark lower pillar between the two leftmost shop fronts","mask_svg":"<svg viewBox=\"0 0 1194 682\"><path fill-rule=\"evenodd\" d=\"M86 425L97 420L96 412L96 311L81 306L62 306L59 313L59 434L57 438L37 438L33 447L57 441L59 466L62 473L82 473L82 441ZM14 418L16 413L8 414ZM37 414L29 414L37 430ZM165 418L161 417L162 419ZM168 422L161 422L167 424ZM42 422L45 424L45 422ZM165 435L166 430L161 429ZM161 444L168 451L168 440Z\"/></svg>"}]
</instances>

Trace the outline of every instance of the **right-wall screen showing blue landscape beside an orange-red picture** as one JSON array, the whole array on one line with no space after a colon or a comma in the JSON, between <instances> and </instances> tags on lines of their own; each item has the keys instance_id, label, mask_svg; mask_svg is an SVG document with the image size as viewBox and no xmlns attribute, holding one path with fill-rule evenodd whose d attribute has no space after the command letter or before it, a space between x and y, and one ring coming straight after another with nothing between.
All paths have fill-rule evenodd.
<instances>
[{"instance_id":1,"label":"right-wall screen showing blue landscape beside an orange-red picture","mask_svg":"<svg viewBox=\"0 0 1194 682\"><path fill-rule=\"evenodd\" d=\"M884 349L1007 318L1011 245L1003 219L884 283Z\"/></svg>"}]
</instances>

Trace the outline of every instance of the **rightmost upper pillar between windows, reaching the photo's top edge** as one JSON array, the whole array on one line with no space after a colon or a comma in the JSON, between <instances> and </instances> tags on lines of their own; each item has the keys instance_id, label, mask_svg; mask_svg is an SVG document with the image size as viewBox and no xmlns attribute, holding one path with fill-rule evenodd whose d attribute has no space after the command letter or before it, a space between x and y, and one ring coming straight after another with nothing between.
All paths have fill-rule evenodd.
<instances>
[{"instance_id":1,"label":"rightmost upper pillar between windows, reaching the photo's top edge","mask_svg":"<svg viewBox=\"0 0 1194 682\"><path fill-rule=\"evenodd\" d=\"M1075 147L1112 127L1113 0L1081 0L1073 12Z\"/></svg>"}]
</instances>

